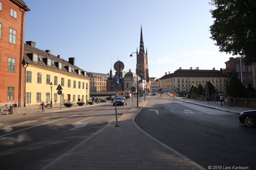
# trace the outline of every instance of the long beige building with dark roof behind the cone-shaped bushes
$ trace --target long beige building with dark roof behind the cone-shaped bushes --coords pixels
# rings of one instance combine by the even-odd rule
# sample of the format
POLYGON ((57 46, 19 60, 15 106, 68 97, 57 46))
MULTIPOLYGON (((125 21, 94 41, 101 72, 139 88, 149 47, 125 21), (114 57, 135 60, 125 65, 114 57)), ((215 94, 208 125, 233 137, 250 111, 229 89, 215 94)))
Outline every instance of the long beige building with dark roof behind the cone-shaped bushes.
POLYGON ((196 67, 195 70, 190 67, 189 70, 178 69, 174 73, 165 72, 165 75, 160 78, 159 86, 164 88, 164 91, 173 92, 189 92, 191 86, 194 84, 198 86, 200 83, 204 86, 207 82, 211 82, 217 92, 225 92, 225 82, 229 79, 227 74, 223 73, 223 70, 199 70, 196 67))

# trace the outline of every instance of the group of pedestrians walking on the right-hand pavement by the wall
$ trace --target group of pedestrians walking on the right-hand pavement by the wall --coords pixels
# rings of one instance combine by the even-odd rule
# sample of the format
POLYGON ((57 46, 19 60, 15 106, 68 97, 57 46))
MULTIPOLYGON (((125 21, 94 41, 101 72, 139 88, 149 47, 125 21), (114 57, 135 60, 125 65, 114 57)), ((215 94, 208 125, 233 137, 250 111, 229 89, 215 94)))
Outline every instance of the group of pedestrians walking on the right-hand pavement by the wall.
MULTIPOLYGON (((217 94, 212 94, 212 96, 210 96, 209 94, 206 96, 206 100, 207 100, 207 103, 208 104, 210 104, 210 101, 212 100, 212 103, 213 103, 213 101, 215 101, 215 104, 216 104, 216 102, 217 102, 217 104, 219 103, 219 98, 218 98, 218 95, 217 94)), ((222 105, 222 102, 223 102, 223 104, 226 104, 226 107, 227 106, 234 106, 233 105, 233 101, 234 101, 234 99, 233 99, 233 97, 232 96, 228 96, 228 94, 227 94, 227 96, 223 96, 223 94, 221 94, 220 95, 220 105, 221 106, 223 106, 222 105)))

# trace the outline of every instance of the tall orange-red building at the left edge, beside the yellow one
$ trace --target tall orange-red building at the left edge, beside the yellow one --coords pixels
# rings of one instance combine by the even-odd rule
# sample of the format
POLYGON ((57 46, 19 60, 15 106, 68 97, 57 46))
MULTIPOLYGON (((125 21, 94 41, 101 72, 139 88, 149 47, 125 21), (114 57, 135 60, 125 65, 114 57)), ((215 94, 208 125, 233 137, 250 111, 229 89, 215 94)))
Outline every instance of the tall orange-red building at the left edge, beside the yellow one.
POLYGON ((23 104, 24 29, 26 11, 23 0, 0 0, 0 105, 23 104))

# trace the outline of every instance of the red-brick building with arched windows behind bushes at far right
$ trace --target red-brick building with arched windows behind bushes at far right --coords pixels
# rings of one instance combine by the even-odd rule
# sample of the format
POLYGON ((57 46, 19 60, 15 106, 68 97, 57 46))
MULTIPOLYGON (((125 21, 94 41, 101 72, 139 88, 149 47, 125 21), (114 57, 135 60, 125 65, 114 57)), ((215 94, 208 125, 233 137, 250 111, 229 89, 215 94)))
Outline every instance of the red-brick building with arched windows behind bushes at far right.
POLYGON ((226 64, 226 69, 223 70, 224 73, 228 73, 230 71, 236 71, 238 78, 243 82, 245 86, 249 83, 252 83, 254 88, 255 85, 255 63, 252 65, 246 65, 244 62, 244 57, 230 57, 226 64), (241 59, 241 60, 240 60, 241 59), (242 76, 241 76, 242 73, 242 76))

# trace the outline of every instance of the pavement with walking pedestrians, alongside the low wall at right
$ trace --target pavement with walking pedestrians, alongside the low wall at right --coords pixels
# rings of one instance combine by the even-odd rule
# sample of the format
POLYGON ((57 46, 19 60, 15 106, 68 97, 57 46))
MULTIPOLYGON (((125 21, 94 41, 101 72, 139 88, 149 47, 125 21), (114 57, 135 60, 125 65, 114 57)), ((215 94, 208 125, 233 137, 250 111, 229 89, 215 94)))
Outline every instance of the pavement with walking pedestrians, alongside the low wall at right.
MULTIPOLYGON (((166 93, 167 95, 169 95, 170 97, 172 97, 172 93, 166 93)), ((207 101, 199 101, 199 100, 194 100, 194 99, 188 99, 185 97, 172 97, 176 100, 179 101, 184 101, 184 102, 188 102, 188 103, 192 103, 195 105, 199 105, 199 106, 203 106, 203 107, 208 107, 208 108, 212 108, 212 109, 217 109, 217 110, 222 110, 222 111, 226 111, 226 112, 230 112, 230 113, 236 113, 236 114, 240 114, 241 112, 245 111, 245 110, 255 110, 256 108, 250 108, 250 107, 240 107, 240 106, 227 106, 224 104, 224 102, 222 103, 223 106, 220 105, 220 101, 218 102, 219 104, 215 104, 215 101, 212 103, 212 101, 210 102, 210 104, 207 103, 207 101)))

